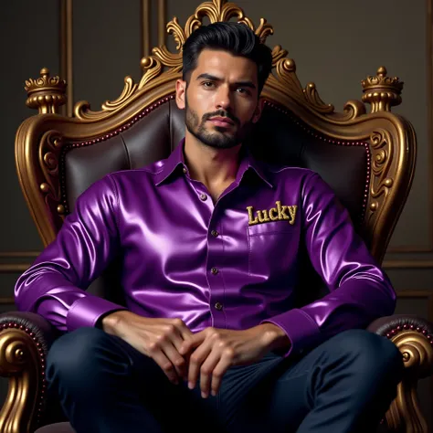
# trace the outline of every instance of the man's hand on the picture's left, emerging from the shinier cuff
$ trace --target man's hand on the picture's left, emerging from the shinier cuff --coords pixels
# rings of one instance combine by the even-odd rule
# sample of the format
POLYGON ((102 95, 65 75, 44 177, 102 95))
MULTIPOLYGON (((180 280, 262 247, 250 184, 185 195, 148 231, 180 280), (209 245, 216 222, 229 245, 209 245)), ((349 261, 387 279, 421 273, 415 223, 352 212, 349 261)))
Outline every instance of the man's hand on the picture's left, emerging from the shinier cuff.
POLYGON ((182 344, 193 333, 181 319, 149 319, 133 312, 112 312, 102 319, 102 329, 130 343, 142 354, 153 358, 174 384, 187 376, 182 344))

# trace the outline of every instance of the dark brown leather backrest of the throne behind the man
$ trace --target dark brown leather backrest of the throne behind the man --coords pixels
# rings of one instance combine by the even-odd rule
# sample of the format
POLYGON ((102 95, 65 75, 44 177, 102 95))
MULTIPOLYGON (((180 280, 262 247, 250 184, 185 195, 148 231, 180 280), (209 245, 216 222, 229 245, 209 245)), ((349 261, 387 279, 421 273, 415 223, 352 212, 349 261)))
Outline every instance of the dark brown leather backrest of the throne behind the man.
MULTIPOLYGON (((73 209, 77 197, 103 175, 166 158, 184 136, 185 113, 170 99, 107 140, 71 147, 65 155, 64 166, 69 210, 73 209)), ((248 146, 260 160, 306 167, 322 175, 349 210, 355 227, 360 229, 369 178, 369 153, 364 143, 335 143, 269 103, 265 105, 248 146)), ((303 304, 319 296, 317 290, 324 290, 324 287, 312 272, 305 251, 301 250, 301 256, 300 280, 303 287, 309 288, 301 290, 308 295, 308 299, 300 301, 303 304)), ((115 259, 89 290, 122 303, 120 263, 121 260, 115 259)))

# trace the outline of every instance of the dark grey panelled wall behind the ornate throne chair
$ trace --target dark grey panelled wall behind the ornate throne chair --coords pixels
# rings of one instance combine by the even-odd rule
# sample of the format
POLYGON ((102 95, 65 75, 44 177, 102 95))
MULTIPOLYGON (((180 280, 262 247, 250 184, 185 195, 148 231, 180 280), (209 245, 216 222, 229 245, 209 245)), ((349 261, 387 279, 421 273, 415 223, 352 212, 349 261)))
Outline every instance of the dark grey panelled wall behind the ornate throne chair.
MULTIPOLYGON (((144 1, 144 0, 143 0, 144 1)), ((158 16, 177 16, 185 25, 199 0, 150 0, 150 28, 143 26, 142 0, 73 0, 73 100, 90 101, 99 110, 116 99, 126 75, 141 76, 143 34, 158 44, 158 16), (143 33, 144 32, 144 33, 143 33)), ((0 14, 2 116, 0 127, 0 311, 15 309, 17 276, 41 250, 15 169, 14 140, 20 122, 36 114, 26 108, 24 81, 48 67, 61 70, 60 12, 67 0, 5 2, 0 14)), ((350 99, 361 99, 361 79, 384 65, 388 75, 405 81, 403 103, 394 109, 415 126, 417 174, 406 209, 396 227, 385 269, 398 291, 397 312, 416 313, 433 321, 433 137, 432 9, 433 0, 239 0, 254 24, 265 17, 275 34, 269 46, 288 49, 305 86, 316 83, 322 100, 337 111, 350 99)), ((174 49, 171 37, 166 38, 174 49)), ((66 77, 63 77, 66 78, 66 77)), ((5 391, 5 381, 3 392, 5 391)), ((0 384, 0 385, 1 385, 0 384)), ((420 385, 430 419, 430 380, 420 385)))

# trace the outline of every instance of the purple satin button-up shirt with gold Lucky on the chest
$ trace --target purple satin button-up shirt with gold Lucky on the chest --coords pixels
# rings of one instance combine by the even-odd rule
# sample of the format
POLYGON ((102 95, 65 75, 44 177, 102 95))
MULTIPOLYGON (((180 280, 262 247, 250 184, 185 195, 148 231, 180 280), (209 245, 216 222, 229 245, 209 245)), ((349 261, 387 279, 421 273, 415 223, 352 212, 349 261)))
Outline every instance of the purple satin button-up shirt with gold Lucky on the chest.
POLYGON ((301 353, 394 312, 396 294, 332 189, 308 169, 241 153, 213 203, 190 178, 184 141, 165 160, 108 174, 79 196, 57 238, 16 282, 16 306, 62 331, 95 326, 120 305, 86 292, 121 251, 126 307, 181 318, 197 332, 272 322, 301 353), (330 293, 293 308, 304 243, 330 293))

